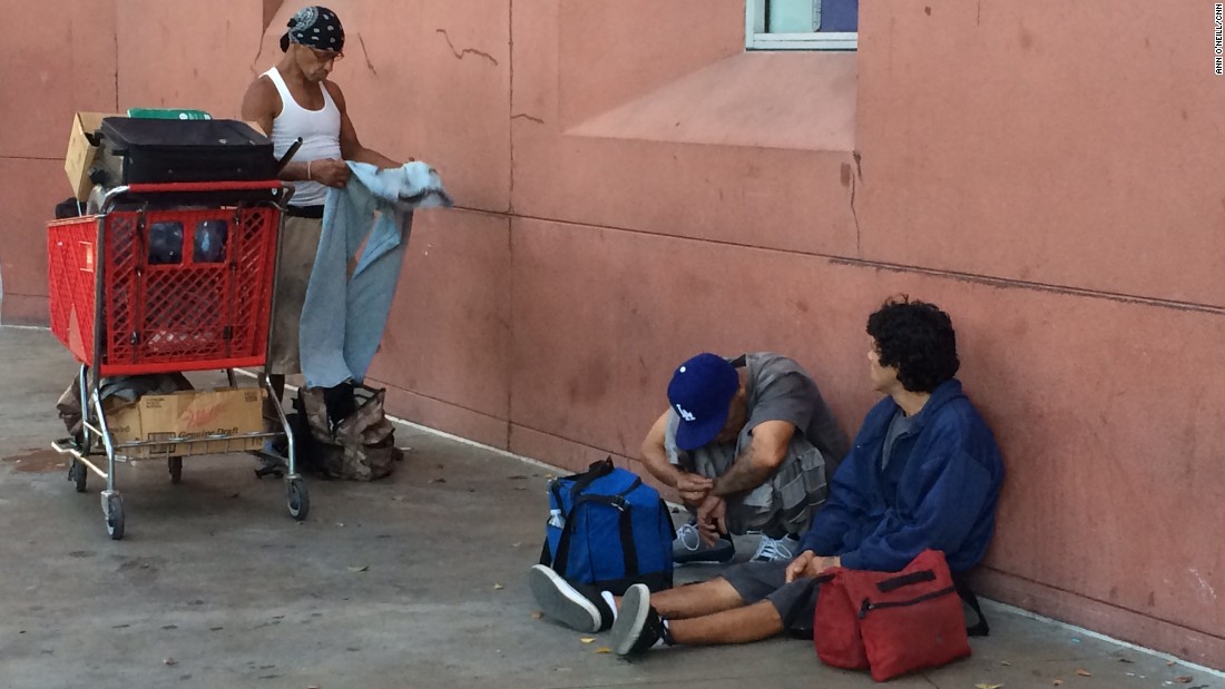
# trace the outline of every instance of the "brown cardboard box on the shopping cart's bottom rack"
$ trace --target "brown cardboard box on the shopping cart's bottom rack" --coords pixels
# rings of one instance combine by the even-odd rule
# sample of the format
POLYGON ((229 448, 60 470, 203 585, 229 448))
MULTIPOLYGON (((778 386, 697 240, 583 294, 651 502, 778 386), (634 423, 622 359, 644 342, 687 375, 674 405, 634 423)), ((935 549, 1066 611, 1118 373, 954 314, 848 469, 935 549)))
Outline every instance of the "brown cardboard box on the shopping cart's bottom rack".
MULTIPOLYGON (((263 390, 219 388, 145 395, 107 410, 107 426, 116 445, 205 436, 240 436, 263 430, 263 390)), ((115 452, 130 458, 187 456, 260 449, 263 438, 160 443, 115 452)))

